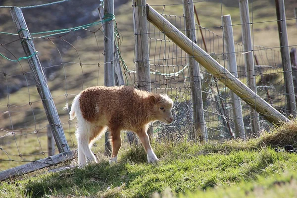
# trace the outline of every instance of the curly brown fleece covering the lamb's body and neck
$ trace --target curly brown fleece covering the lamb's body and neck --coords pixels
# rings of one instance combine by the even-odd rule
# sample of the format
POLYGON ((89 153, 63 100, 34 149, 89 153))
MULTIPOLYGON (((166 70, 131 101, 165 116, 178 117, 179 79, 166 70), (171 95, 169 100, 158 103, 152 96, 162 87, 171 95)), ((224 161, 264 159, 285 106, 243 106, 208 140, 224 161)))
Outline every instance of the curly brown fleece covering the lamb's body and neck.
MULTIPOLYGON (((146 128, 150 121, 155 121, 150 110, 153 104, 149 97, 152 93, 132 87, 90 87, 80 96, 80 109, 89 122, 108 120, 108 127, 119 130, 138 130, 146 128)), ((157 100, 160 96, 155 95, 157 100)), ((111 134, 112 136, 112 134, 111 134)))

